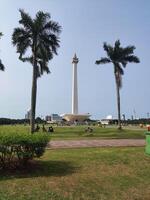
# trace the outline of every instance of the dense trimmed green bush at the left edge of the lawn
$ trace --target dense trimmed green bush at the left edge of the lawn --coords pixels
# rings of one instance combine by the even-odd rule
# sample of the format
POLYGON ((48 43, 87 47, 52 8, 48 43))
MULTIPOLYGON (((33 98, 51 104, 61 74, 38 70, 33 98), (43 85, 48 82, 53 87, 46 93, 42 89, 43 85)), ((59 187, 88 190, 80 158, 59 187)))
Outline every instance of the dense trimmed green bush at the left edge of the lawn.
POLYGON ((0 168, 26 165, 45 152, 50 137, 45 133, 0 134, 0 168))

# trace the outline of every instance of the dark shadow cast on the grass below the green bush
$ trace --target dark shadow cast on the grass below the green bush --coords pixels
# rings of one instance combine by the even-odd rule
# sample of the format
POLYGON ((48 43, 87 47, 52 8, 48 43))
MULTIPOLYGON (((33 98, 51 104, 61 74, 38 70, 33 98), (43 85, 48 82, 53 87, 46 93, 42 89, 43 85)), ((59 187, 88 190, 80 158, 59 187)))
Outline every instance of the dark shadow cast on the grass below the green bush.
POLYGON ((79 167, 66 161, 32 161, 26 167, 13 170, 0 170, 0 181, 15 178, 34 178, 66 176, 76 172, 79 167))

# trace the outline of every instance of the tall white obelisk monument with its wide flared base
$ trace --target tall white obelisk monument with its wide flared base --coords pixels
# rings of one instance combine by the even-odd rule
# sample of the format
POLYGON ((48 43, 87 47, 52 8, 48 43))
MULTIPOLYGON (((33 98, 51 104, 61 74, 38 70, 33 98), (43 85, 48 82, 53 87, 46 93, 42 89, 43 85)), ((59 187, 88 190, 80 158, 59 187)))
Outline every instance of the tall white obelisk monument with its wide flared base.
POLYGON ((73 64, 73 76, 72 76, 72 114, 64 114, 62 117, 67 121, 79 121, 82 122, 90 117, 89 114, 78 114, 78 74, 77 64, 79 59, 76 54, 72 59, 73 64))

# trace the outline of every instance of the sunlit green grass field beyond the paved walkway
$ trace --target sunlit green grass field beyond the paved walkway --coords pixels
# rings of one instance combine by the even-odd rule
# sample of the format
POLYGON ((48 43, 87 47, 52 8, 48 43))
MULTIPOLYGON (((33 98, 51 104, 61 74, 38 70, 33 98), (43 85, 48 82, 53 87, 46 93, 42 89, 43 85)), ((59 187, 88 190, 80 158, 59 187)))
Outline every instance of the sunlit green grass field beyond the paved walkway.
MULTIPOLYGON (((42 127, 42 126, 41 126, 42 127)), ((54 133, 51 133, 52 140, 69 140, 69 139, 117 139, 117 138, 145 138, 145 129, 126 127, 119 131, 116 127, 101 128, 93 126, 93 133, 85 133, 86 126, 68 126, 68 127, 54 127, 54 133)), ((28 132, 29 126, 0 126, 0 133, 6 132, 28 132)))

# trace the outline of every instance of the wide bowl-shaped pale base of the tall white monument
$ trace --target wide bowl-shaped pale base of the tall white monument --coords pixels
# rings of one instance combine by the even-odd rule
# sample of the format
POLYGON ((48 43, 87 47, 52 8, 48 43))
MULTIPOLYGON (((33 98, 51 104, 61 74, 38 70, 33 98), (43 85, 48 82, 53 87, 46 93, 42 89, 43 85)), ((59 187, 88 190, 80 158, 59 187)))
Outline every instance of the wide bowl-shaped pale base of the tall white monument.
POLYGON ((89 119, 90 114, 64 114, 62 118, 68 122, 83 122, 89 119))

